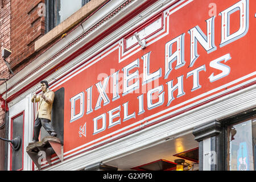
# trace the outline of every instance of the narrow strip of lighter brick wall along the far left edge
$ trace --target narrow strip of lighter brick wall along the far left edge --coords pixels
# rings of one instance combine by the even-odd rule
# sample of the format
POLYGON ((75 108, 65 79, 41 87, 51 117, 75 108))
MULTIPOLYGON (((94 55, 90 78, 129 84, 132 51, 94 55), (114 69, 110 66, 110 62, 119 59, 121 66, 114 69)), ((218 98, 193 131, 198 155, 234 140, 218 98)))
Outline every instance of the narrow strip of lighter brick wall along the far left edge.
MULTIPOLYGON (((0 42, 1 52, 3 48, 10 49, 10 21, 11 21, 11 0, 0 1, 0 42)), ((10 57, 6 59, 10 61, 10 57)), ((9 72, 5 62, 0 59, 0 78, 8 78, 9 72)), ((2 81, 3 82, 3 81, 2 81)), ((6 138, 5 136, 5 111, 0 107, 0 137, 6 138)), ((5 142, 0 140, 0 170, 4 170, 5 167, 5 142)))

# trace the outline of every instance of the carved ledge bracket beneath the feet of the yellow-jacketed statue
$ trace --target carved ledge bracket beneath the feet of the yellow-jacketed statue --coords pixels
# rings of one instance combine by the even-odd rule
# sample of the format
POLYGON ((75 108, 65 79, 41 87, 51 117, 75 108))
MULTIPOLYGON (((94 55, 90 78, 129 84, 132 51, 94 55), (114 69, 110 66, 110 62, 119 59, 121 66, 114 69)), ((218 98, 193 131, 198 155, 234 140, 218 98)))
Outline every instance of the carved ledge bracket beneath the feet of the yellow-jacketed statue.
POLYGON ((48 162, 51 166, 51 155, 56 154, 63 162, 63 144, 56 137, 44 137, 40 142, 31 142, 27 146, 27 154, 38 169, 42 164, 48 162))

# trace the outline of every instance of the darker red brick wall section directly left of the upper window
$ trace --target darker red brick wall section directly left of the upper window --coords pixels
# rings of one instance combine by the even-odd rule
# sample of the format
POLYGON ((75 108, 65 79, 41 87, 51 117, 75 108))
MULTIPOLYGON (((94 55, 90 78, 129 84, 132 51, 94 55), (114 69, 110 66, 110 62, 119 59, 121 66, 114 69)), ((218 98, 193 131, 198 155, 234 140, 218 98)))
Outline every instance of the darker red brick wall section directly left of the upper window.
POLYGON ((45 34, 45 17, 40 16, 38 5, 44 0, 11 1, 11 50, 10 65, 19 72, 35 59, 35 41, 45 34))

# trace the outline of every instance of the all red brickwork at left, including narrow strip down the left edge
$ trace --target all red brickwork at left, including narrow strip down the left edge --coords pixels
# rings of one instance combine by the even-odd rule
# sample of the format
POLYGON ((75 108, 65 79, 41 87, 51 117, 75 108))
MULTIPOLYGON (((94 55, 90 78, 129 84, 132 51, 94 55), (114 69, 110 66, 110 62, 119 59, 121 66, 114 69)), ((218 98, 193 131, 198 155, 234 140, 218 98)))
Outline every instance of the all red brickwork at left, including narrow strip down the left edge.
MULTIPOLYGON (((0 0, 1 51, 3 48, 12 51, 11 56, 6 60, 10 63, 14 74, 26 67, 39 54, 35 52, 34 44, 46 30, 45 18, 38 14, 39 3, 44 3, 44 0, 0 0)), ((0 78, 11 76, 1 56, 0 78)), ((0 84, 3 83, 3 81, 0 82, 0 84)), ((2 138, 6 138, 4 118, 5 111, 0 107, 0 137, 2 138)), ((5 142, 0 140, 0 170, 4 170, 4 158, 5 142)))

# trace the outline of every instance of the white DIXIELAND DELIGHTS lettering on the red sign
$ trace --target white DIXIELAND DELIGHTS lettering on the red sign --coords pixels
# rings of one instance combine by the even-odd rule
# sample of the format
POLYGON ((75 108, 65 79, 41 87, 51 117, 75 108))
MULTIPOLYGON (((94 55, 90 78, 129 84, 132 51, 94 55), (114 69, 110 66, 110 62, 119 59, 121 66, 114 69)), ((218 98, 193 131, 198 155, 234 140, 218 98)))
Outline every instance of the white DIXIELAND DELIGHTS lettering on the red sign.
MULTIPOLYGON (((218 31, 221 31, 221 42, 220 47, 225 46, 233 42, 234 40, 242 38, 247 33, 249 28, 249 1, 241 0, 234 4, 233 6, 228 7, 228 9, 221 11, 221 28, 218 31), (230 34, 230 15, 236 11, 240 11, 240 28, 230 34)), ((106 106, 110 103, 108 96, 112 96, 112 102, 119 100, 120 95, 122 96, 123 102, 119 104, 119 106, 115 106, 115 108, 110 108, 108 111, 104 111, 93 118, 93 135, 101 133, 102 131, 108 130, 110 127, 114 127, 117 125, 121 125, 122 122, 129 122, 129 119, 136 118, 137 115, 140 115, 145 112, 145 110, 152 110, 156 107, 159 107, 164 104, 164 99, 167 101, 166 106, 170 106, 172 101, 176 98, 184 96, 186 93, 184 92, 184 80, 191 81, 191 88, 189 88, 189 92, 195 90, 199 90, 202 86, 200 84, 200 75, 205 76, 205 78, 209 79, 209 84, 220 80, 223 77, 229 76, 231 71, 230 67, 225 64, 228 60, 232 59, 230 53, 226 52, 225 55, 220 55, 217 59, 210 60, 209 62, 203 65, 197 65, 196 60, 200 55, 197 53, 197 43, 200 43, 200 46, 205 49, 205 52, 210 53, 217 49, 214 44, 214 19, 215 16, 205 20, 206 22, 206 31, 203 32, 199 26, 194 26, 190 30, 187 30, 187 35, 190 36, 190 44, 188 43, 189 53, 190 53, 190 62, 188 64, 187 73, 180 73, 180 75, 173 75, 171 71, 173 67, 175 69, 179 69, 185 65, 185 57, 184 57, 184 41, 186 33, 178 34, 176 38, 171 39, 165 44, 164 47, 164 60, 150 60, 150 55, 152 51, 146 51, 144 49, 143 56, 133 58, 131 63, 127 63, 122 69, 115 71, 112 69, 109 75, 104 73, 103 80, 94 84, 95 86, 90 86, 89 88, 85 88, 87 93, 87 108, 86 114, 93 113, 94 110, 98 110, 101 106, 106 106), (173 51, 173 49, 175 49, 173 51), (135 59, 135 60, 134 60, 135 59), (150 71, 150 63, 152 61, 164 61, 164 68, 154 67, 154 71, 150 71), (173 65, 176 62, 176 65, 173 65), (195 64, 195 65, 194 65, 195 64), (139 66, 143 65, 142 69, 139 69, 139 66), (208 67, 206 66, 208 65, 208 67), (195 68, 194 68, 195 67, 195 68), (209 68, 208 70, 206 68, 209 68), (212 71, 212 68, 214 71, 212 71), (143 73, 139 73, 141 70, 143 73), (164 70, 164 74, 162 74, 162 70, 164 70), (221 71, 221 72, 220 72, 221 71), (163 80, 168 79, 162 85, 158 85, 159 78, 162 77, 163 80), (121 80, 119 78, 122 78, 121 80), (141 81, 140 81, 141 79, 141 81), (144 91, 149 84, 156 80, 157 84, 154 84, 154 88, 150 88, 142 94, 137 94, 134 98, 136 104, 130 104, 131 101, 125 100, 126 95, 129 93, 140 93, 139 89, 144 91), (107 95, 109 93, 108 86, 110 83, 110 90, 112 90, 112 95, 107 95), (121 89, 122 86, 122 89, 121 89), (164 88, 167 88, 164 90, 164 88), (120 93, 119 90, 122 92, 120 93), (97 97, 94 96, 93 93, 98 93, 97 97), (92 96, 96 98, 92 98, 92 96), (97 102, 96 102, 97 101, 97 102), (102 104, 103 101, 103 104, 102 104), (93 103, 96 102, 96 103, 93 103), (134 109, 134 106, 137 109, 134 109), (107 123, 108 120, 108 123, 107 123), (108 129, 106 126, 108 125, 108 129)), ((235 22, 235 21, 232 21, 235 22)), ((190 27, 189 27, 190 28, 190 27)), ((229 61, 230 62, 230 61, 229 61)), ((228 62, 228 63, 229 63, 228 62)), ((232 61, 230 62, 232 63, 232 61)), ((155 65, 155 64, 154 64, 155 65)), ((151 66, 152 70, 152 66, 151 66)), ((151 85, 152 86, 152 85, 151 85)), ((187 92, 187 90, 186 90, 187 92)), ((189 93, 187 93, 189 95, 189 93)), ((76 94, 71 98, 71 120, 70 122, 76 121, 84 115, 84 92, 76 94), (80 108, 76 107, 76 102, 79 102, 80 108), (77 113, 77 114, 76 114, 77 113)), ((133 101, 134 102, 134 101, 133 101)), ((89 123, 88 121, 86 121, 89 123)), ((84 128, 85 130, 85 128, 84 128)))

